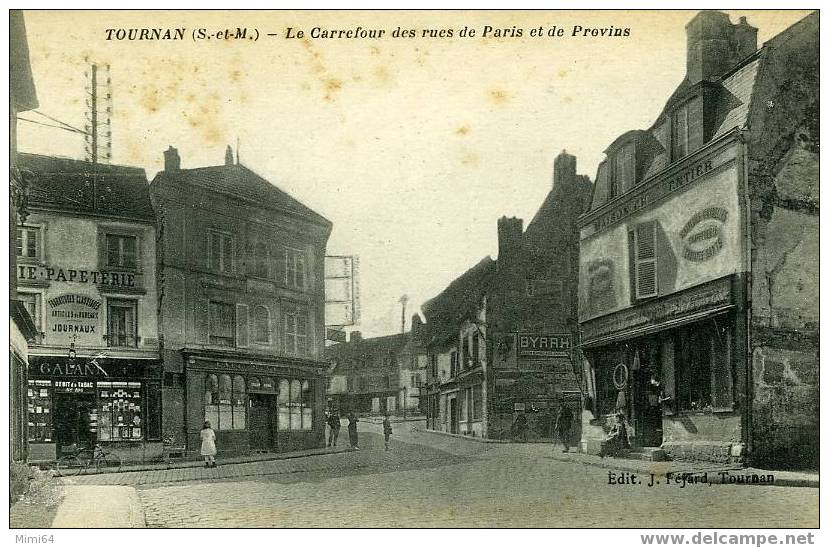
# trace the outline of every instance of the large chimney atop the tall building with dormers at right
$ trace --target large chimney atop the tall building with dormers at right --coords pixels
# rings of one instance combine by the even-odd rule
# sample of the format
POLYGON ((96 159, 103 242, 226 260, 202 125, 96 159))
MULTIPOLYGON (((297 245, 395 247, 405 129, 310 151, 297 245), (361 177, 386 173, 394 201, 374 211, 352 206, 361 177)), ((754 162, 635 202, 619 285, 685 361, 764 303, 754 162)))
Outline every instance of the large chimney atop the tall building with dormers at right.
POLYGON ((685 25, 688 83, 714 80, 734 63, 734 26, 721 11, 703 10, 685 25))

